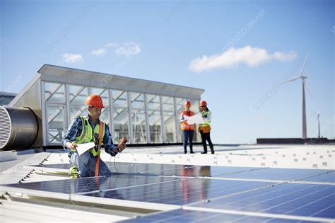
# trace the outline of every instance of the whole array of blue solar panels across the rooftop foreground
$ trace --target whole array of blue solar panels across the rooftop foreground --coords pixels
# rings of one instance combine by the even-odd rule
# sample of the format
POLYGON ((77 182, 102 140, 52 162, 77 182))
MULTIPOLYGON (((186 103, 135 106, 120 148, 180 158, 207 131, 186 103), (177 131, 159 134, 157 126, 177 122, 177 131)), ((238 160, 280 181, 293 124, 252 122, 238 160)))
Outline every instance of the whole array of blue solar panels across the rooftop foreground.
MULTIPOLYGON (((124 222, 335 221, 335 171, 117 163, 100 178, 6 185, 7 190, 69 195, 69 200, 119 200, 170 210, 124 222), (76 195, 76 196, 73 196, 76 195)), ((69 168, 64 164, 36 168, 69 168)), ((2 187, 4 188, 4 187, 2 187)))

